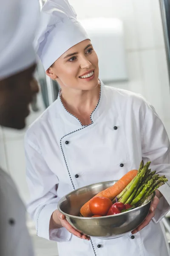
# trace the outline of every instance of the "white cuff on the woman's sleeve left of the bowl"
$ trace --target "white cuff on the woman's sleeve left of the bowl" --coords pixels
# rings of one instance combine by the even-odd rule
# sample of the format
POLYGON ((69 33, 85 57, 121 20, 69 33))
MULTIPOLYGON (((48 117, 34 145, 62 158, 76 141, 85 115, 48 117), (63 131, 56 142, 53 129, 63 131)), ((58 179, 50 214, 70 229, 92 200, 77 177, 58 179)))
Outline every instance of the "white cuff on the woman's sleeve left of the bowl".
POLYGON ((39 212, 37 218, 37 236, 54 241, 68 241, 71 238, 64 227, 49 231, 50 219, 52 213, 57 209, 57 204, 45 204, 39 212))

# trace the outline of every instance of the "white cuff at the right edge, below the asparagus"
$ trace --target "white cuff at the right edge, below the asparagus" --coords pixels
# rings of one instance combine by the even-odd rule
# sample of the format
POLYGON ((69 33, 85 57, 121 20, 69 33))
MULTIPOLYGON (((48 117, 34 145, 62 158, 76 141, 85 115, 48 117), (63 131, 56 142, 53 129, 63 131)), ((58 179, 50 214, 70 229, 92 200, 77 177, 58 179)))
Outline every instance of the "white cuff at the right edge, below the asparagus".
POLYGON ((158 223, 162 218, 170 211, 170 186, 165 183, 163 186, 159 187, 159 191, 163 195, 159 199, 159 204, 155 211, 155 216, 153 221, 158 223))

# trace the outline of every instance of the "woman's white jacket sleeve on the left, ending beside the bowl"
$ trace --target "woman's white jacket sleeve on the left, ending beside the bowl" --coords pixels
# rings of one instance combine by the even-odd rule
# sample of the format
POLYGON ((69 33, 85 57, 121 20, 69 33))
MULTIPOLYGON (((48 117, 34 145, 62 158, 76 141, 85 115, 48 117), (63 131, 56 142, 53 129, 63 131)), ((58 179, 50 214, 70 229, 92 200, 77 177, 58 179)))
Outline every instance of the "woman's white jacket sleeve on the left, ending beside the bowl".
POLYGON ((49 230, 51 215, 60 199, 57 197, 59 180, 49 169, 35 140, 25 137, 26 178, 30 192, 28 212, 34 219, 37 236, 58 242, 68 241, 71 233, 64 227, 49 230))

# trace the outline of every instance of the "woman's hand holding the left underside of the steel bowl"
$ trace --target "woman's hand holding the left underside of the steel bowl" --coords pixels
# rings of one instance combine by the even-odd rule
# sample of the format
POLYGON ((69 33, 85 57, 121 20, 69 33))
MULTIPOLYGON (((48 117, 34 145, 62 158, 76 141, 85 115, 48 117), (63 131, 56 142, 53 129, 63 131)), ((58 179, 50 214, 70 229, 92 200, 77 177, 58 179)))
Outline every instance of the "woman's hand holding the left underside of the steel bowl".
POLYGON ((77 236, 81 239, 90 240, 90 237, 82 235, 77 230, 75 230, 71 225, 68 223, 68 221, 65 219, 65 216, 59 212, 59 210, 55 210, 51 216, 51 226, 50 228, 59 228, 59 227, 65 227, 66 230, 68 230, 71 234, 74 236, 77 236), (53 224, 52 224, 53 223, 53 224), (54 227, 55 225, 55 227, 54 227))

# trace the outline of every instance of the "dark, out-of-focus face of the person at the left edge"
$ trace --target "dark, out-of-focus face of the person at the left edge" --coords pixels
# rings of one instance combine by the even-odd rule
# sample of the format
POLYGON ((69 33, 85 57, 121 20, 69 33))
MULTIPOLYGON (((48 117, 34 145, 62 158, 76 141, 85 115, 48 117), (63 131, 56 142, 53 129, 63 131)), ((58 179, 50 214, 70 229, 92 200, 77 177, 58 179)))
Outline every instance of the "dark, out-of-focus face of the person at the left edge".
POLYGON ((29 103, 38 92, 33 79, 36 65, 0 81, 0 125, 23 129, 29 114, 29 103))

